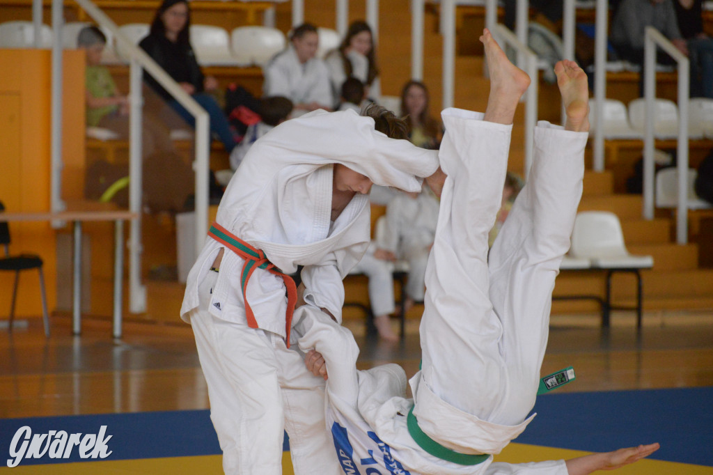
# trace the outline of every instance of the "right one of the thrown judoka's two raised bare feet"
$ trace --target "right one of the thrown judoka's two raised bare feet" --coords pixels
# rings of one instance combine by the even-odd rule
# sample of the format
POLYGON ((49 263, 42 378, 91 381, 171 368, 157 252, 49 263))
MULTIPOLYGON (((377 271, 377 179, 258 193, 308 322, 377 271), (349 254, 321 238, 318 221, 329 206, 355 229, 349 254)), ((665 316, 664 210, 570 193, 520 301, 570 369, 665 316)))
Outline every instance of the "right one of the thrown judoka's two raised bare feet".
POLYGON ((567 115, 565 129, 574 132, 589 131, 587 73, 574 61, 565 60, 555 64, 555 74, 567 115))

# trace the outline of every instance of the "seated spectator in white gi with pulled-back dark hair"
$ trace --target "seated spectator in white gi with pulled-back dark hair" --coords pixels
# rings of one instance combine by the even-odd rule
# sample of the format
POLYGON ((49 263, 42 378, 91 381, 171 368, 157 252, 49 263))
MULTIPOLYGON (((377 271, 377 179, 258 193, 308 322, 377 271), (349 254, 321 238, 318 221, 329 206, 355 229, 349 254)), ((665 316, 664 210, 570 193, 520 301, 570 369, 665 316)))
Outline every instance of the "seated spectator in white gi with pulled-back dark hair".
POLYGON ((290 44, 265 67, 264 96, 284 96, 294 103, 293 115, 331 110, 332 86, 324 61, 315 57, 317 27, 305 23, 294 29, 290 44))

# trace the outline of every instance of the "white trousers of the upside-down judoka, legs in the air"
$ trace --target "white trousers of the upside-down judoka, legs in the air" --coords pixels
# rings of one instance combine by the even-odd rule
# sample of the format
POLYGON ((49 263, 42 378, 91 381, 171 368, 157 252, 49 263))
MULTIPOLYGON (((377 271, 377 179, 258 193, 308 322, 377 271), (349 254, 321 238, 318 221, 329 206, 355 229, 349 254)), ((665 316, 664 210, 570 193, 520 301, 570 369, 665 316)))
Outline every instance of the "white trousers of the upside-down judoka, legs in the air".
MULTIPOLYGON (((439 154, 448 178, 426 271, 421 384, 455 408, 454 420, 459 412, 513 426, 535 404, 552 290, 582 194, 587 134, 538 124, 528 183, 488 260, 511 126, 482 122, 448 133, 467 137, 446 138, 439 154)), ((448 424, 442 410, 415 399, 422 428, 448 424)))

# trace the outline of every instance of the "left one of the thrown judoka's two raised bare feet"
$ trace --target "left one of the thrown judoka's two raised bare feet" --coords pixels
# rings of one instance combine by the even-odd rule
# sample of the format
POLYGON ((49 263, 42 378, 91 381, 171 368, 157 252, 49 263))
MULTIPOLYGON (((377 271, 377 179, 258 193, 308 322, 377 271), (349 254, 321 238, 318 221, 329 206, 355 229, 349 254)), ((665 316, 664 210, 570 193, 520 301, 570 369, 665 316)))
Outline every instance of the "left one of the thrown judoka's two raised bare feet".
POLYGON ((481 42, 485 46, 491 78, 491 91, 484 120, 511 124, 520 97, 530 86, 530 76, 510 62, 487 28, 483 30, 481 42))

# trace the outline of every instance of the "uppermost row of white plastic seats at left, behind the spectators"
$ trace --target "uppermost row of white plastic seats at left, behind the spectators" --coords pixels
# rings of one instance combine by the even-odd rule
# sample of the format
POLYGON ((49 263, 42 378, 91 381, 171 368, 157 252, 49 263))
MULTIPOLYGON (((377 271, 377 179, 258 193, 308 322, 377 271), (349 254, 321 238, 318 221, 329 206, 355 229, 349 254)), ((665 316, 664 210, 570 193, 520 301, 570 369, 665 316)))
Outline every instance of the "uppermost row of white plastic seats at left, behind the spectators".
MULTIPOLYGON (((76 48, 77 35, 89 25, 86 22, 71 22, 62 29, 64 48, 76 48)), ((149 24, 125 24, 119 26, 121 34, 133 44, 138 44, 148 35, 149 24)), ((107 47, 102 62, 107 64, 125 63, 128 55, 113 39, 113 35, 102 29, 107 37, 107 47)), ((341 38, 337 31, 319 28, 319 50, 323 57, 327 51, 339 46, 341 38)), ((262 66, 282 51, 287 40, 282 31, 267 26, 238 26, 230 33, 220 26, 191 25, 191 44, 201 66, 262 66)), ((51 48, 52 29, 41 28, 41 48, 51 48)), ((7 21, 0 24, 0 48, 34 48, 34 26, 31 21, 7 21)))

